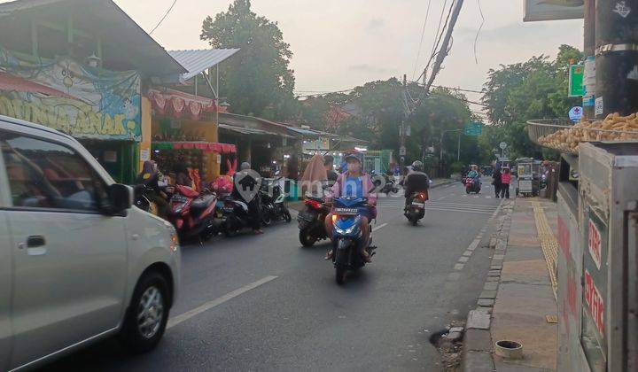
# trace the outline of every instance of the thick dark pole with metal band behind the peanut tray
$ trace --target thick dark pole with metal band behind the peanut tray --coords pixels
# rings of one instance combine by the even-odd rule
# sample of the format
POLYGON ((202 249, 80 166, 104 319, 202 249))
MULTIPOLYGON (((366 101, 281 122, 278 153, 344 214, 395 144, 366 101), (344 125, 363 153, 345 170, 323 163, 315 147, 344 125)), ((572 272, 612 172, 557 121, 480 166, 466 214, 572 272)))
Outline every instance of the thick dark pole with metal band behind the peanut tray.
POLYGON ((638 112, 638 0, 595 3, 595 117, 638 112))

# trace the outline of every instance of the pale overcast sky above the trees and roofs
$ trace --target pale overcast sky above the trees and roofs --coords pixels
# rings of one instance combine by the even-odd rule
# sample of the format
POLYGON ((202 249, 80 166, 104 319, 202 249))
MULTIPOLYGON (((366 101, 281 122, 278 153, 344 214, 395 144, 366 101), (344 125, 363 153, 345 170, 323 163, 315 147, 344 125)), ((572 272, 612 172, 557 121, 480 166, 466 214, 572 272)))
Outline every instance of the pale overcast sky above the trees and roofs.
MULTIPOLYGON (((418 76, 432 51, 445 1, 432 0, 418 60, 428 0, 253 0, 253 11, 278 22, 284 40, 291 44, 296 90, 332 91, 402 74, 410 79, 415 66, 418 76)), ((150 31, 173 0, 115 2, 150 31)), ((229 4, 230 0, 177 0, 152 36, 167 50, 206 48, 199 40, 202 20, 226 11, 229 4)), ((582 48, 582 19, 525 23, 522 19, 523 0, 466 0, 453 49, 436 83, 480 89, 486 72, 499 64, 541 53, 555 56, 561 43, 582 48), (477 63, 479 3, 485 24, 478 35, 477 63)))

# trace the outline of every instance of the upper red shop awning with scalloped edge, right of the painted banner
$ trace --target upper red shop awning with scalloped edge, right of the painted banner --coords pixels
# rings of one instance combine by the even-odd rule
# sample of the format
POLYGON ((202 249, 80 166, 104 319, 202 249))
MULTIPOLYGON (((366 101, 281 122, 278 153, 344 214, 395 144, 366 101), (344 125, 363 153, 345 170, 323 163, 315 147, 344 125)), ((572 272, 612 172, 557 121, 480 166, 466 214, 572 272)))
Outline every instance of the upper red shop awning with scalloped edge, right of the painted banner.
POLYGON ((162 115, 172 114, 175 119, 188 114, 192 120, 198 120, 201 112, 214 112, 217 107, 214 99, 194 96, 175 89, 149 89, 148 97, 155 110, 162 115))

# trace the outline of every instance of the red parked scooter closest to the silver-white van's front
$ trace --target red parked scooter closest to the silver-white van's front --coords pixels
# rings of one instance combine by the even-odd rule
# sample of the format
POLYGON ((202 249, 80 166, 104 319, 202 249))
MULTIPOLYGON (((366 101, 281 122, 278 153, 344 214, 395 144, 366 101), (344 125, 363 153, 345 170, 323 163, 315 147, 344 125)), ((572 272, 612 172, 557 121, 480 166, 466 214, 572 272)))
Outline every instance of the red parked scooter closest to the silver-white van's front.
POLYGON ((190 187, 175 185, 168 208, 168 221, 175 226, 181 241, 198 238, 200 242, 205 242, 217 235, 214 223, 216 203, 217 197, 213 193, 199 193, 190 187))

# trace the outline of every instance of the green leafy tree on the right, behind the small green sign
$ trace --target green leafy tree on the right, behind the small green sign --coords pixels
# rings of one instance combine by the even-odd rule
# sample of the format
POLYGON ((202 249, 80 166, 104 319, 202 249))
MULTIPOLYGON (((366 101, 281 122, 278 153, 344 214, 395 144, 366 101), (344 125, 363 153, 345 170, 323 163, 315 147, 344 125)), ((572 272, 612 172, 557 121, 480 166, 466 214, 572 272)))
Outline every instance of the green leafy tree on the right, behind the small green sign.
POLYGON ((494 143, 504 141, 510 158, 556 156, 530 141, 527 121, 566 118, 572 106, 580 105, 580 98, 567 97, 567 84, 570 62, 581 58, 580 50, 561 45, 554 60, 541 55, 491 69, 482 100, 493 128, 479 140, 481 154, 489 156, 494 143))

